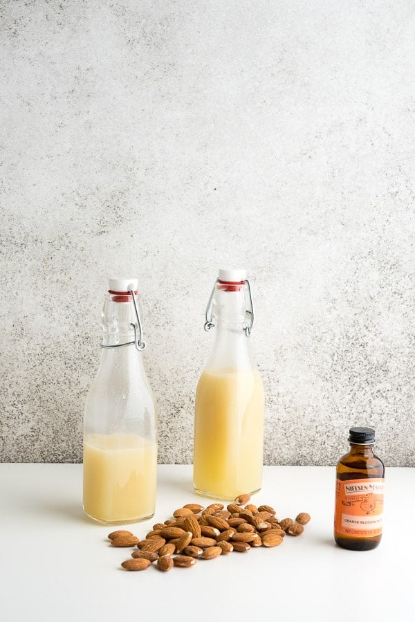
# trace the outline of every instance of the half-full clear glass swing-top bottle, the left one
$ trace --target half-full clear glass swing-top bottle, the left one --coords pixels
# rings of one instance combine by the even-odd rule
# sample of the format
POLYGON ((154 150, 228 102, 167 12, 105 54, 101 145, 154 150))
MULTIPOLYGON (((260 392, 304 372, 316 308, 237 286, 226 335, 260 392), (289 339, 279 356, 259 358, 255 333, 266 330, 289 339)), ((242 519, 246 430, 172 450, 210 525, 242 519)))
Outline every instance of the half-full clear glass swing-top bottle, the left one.
POLYGON ((102 355, 85 403, 84 512, 102 524, 149 518, 156 504, 156 404, 136 298, 136 279, 109 279, 102 355))

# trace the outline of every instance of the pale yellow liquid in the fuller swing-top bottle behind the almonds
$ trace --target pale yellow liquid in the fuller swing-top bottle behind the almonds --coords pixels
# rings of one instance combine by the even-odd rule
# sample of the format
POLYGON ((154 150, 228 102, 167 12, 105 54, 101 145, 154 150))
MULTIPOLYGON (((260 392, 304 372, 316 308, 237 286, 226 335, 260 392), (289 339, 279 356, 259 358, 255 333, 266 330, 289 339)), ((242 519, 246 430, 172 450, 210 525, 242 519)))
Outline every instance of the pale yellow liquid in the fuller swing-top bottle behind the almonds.
POLYGON ((194 488, 233 500, 261 488, 264 389, 258 372, 203 372, 196 390, 194 488))

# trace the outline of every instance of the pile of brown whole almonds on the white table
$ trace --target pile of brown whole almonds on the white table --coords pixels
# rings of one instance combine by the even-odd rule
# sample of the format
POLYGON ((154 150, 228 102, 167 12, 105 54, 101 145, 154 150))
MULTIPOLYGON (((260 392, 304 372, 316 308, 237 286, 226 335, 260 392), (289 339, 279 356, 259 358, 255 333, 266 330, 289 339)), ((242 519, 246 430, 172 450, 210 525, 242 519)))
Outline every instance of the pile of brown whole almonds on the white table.
POLYGON ((113 547, 135 547, 131 559, 122 562, 126 570, 145 570, 153 562, 161 571, 173 566, 189 568, 197 559, 214 559, 252 547, 277 547, 284 536, 299 536, 310 520, 306 512, 295 520, 280 520, 269 505, 249 503, 250 495, 239 495, 226 509, 221 503, 208 507, 189 503, 173 513, 172 519, 153 525, 152 531, 139 540, 131 531, 109 534, 113 547))

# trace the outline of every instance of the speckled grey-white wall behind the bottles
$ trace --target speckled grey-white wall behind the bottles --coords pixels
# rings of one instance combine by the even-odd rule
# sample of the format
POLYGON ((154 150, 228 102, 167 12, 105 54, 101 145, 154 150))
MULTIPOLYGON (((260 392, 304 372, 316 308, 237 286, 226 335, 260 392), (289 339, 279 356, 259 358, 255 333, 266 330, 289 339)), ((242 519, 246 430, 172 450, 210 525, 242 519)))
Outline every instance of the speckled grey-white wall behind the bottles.
POLYGON ((191 462, 245 266, 266 464, 349 426, 415 466, 411 0, 0 2, 2 461, 80 461, 107 277, 140 282, 159 461, 191 462))

